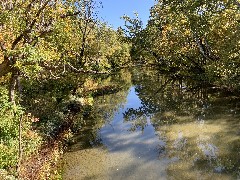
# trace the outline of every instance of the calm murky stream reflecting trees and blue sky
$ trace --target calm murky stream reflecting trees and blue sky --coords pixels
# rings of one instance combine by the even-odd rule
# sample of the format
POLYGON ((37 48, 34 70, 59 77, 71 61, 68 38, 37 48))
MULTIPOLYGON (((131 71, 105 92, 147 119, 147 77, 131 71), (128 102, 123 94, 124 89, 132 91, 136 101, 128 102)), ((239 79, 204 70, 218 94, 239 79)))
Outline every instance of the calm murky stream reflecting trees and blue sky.
POLYGON ((131 82, 95 98, 63 179, 240 178, 238 97, 156 71, 134 71, 131 82))

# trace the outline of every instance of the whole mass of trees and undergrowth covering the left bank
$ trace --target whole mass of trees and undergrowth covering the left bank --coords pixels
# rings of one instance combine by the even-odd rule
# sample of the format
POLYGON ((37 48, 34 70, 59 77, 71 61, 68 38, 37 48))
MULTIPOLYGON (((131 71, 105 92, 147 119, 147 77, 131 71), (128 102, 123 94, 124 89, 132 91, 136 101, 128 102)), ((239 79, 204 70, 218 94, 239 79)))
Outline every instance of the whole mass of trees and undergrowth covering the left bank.
POLYGON ((41 138, 82 123, 83 106, 93 105, 91 94, 76 95, 91 82, 85 72, 129 64, 130 45, 98 20, 97 8, 94 0, 0 3, 0 169, 17 165, 19 119, 27 158, 41 138))

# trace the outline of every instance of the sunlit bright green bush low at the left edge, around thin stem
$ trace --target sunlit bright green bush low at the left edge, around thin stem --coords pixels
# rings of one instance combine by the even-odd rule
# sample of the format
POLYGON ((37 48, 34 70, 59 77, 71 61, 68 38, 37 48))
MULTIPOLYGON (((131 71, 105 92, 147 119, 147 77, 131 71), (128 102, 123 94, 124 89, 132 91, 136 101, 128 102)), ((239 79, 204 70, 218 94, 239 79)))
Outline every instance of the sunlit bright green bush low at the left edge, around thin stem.
MULTIPOLYGON (((23 114, 19 106, 12 107, 8 102, 7 89, 0 88, 0 169, 14 170, 19 155, 19 119, 23 116, 22 146, 24 157, 29 156, 41 143, 41 137, 31 128, 37 120, 32 115, 23 114)), ((14 172, 14 171, 13 171, 14 172)))

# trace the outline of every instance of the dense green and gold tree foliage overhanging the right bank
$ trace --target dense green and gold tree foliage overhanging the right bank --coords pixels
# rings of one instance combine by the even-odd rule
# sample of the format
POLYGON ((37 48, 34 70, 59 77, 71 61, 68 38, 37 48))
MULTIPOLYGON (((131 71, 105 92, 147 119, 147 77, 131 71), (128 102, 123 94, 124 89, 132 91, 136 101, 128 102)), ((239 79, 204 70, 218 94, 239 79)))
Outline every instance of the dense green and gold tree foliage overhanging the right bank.
POLYGON ((205 74, 203 79, 211 83, 236 84, 238 1, 159 0, 150 13, 147 27, 131 37, 136 59, 184 76, 205 74))

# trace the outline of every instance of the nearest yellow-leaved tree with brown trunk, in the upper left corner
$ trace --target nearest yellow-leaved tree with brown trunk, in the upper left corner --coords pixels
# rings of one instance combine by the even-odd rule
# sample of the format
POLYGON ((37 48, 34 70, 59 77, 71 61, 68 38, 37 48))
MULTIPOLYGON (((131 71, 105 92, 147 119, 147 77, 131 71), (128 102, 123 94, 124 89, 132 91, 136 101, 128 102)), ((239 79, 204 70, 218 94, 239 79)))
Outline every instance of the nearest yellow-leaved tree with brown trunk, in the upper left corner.
POLYGON ((48 42, 56 36, 54 30, 68 19, 80 13, 75 1, 19 0, 3 1, 0 6, 0 77, 11 73, 10 101, 20 75, 48 68, 48 62, 59 60, 61 54, 48 42))

